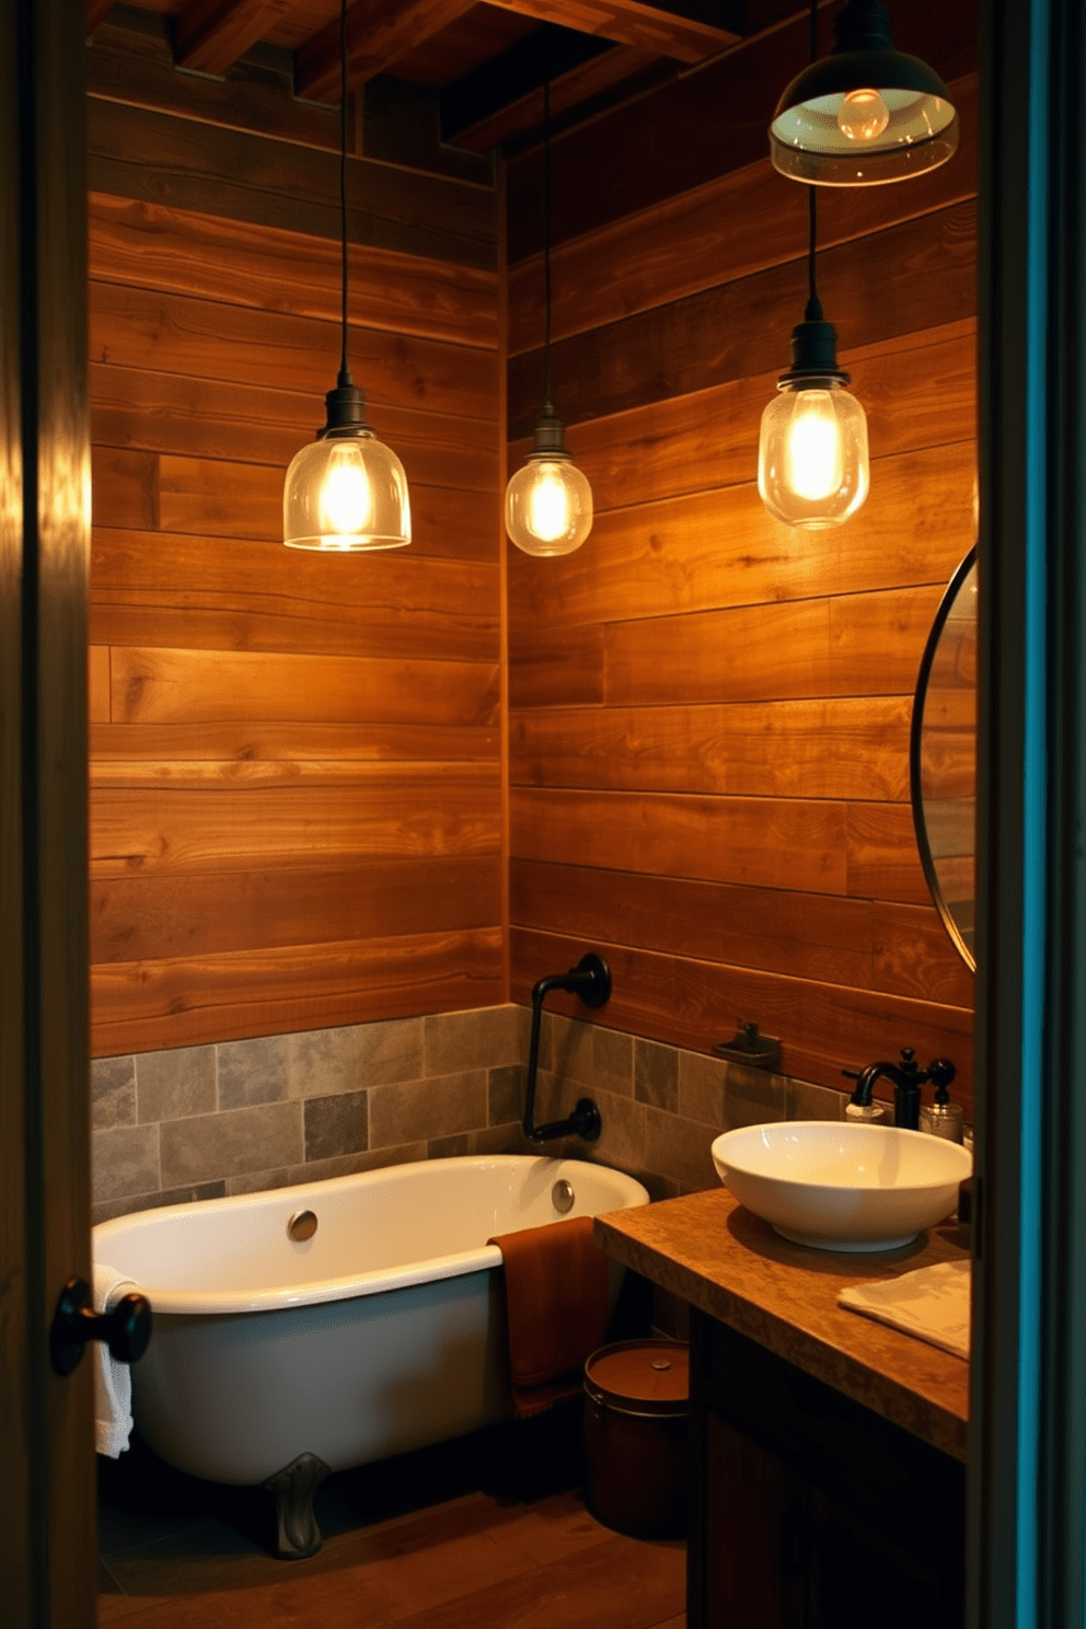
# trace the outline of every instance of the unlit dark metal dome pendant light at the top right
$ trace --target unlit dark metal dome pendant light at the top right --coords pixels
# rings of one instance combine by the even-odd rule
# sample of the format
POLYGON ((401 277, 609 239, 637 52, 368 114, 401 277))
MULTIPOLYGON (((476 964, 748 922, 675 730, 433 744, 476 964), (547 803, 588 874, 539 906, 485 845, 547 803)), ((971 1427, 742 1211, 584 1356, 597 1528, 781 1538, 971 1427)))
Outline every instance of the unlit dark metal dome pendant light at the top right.
POLYGON ((791 81, 770 124, 773 168, 827 187, 904 181, 944 165, 957 147, 957 111, 943 80, 894 50, 879 0, 847 0, 834 46, 791 81))

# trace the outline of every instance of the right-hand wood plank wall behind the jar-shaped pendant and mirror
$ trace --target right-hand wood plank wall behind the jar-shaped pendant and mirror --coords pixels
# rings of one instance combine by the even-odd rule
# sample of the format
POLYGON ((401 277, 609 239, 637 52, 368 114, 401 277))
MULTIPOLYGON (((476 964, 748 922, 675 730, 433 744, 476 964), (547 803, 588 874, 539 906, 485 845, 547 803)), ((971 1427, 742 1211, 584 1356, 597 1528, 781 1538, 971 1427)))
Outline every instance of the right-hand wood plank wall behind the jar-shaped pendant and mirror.
MULTIPOLYGON (((806 191, 765 156, 806 26, 554 142, 555 406, 596 523, 562 560, 510 549, 511 979, 524 1000, 598 946, 601 1023, 707 1047, 755 1020, 786 1074, 839 1088, 912 1044, 969 1098, 972 977, 917 854, 909 720, 972 542, 977 20, 918 0, 894 24, 962 140, 931 176, 821 194, 873 453, 840 529, 780 526, 755 489, 806 301, 806 191)), ((516 468, 542 397, 537 151, 508 165, 506 220, 516 468)))

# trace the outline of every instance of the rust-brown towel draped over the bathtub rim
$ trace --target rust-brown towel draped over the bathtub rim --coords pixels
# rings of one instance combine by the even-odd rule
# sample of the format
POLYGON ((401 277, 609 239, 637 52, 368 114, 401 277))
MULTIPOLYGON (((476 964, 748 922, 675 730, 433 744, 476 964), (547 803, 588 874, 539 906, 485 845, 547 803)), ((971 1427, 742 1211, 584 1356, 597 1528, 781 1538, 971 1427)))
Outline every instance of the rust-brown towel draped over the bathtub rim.
POLYGON ((607 1258, 593 1218, 500 1233, 505 1262, 508 1378, 519 1419, 542 1414, 585 1383, 585 1359, 607 1334, 607 1258))

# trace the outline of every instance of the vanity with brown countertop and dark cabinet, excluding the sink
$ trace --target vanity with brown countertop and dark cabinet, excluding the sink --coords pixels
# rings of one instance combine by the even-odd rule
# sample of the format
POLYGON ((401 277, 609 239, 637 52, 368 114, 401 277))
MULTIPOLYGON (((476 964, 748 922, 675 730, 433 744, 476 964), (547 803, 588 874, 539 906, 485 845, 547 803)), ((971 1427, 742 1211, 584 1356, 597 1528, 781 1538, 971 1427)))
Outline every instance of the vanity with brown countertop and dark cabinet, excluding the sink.
POLYGON ((721 1189, 596 1236, 690 1305, 689 1629, 961 1629, 969 1365, 837 1306, 959 1230, 809 1251, 721 1189))

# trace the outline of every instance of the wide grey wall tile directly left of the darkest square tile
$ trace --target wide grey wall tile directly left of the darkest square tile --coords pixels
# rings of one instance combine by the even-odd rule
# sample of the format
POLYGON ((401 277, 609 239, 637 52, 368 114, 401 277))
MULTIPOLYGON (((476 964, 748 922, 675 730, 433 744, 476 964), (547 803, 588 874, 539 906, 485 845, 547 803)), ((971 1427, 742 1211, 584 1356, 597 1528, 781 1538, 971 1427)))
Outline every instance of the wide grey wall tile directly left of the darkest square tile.
POLYGON ((161 1127, 164 1186, 274 1171, 301 1160, 301 1103, 223 1109, 161 1127))

